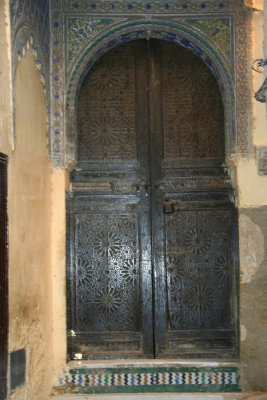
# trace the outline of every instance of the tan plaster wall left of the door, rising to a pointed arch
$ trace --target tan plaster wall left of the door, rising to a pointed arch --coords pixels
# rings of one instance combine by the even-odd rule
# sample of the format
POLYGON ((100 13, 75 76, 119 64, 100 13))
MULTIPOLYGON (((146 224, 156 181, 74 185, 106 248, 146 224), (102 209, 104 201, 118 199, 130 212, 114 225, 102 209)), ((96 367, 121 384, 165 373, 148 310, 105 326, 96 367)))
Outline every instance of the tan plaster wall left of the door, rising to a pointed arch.
POLYGON ((26 350, 12 400, 47 399, 52 365, 51 169, 43 85, 31 48, 17 65, 15 149, 9 156, 9 343, 26 350))

